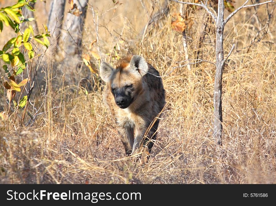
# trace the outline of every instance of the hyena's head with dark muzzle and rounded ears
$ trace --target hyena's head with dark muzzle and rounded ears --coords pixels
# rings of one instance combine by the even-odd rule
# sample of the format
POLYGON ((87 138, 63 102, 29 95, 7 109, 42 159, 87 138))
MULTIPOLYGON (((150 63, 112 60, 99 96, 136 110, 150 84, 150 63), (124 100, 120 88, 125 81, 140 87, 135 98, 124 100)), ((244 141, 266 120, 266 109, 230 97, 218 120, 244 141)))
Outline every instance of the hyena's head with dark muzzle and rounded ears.
POLYGON ((107 83, 115 103, 122 109, 129 107, 143 92, 143 76, 147 72, 147 62, 138 55, 120 61, 115 68, 105 62, 100 66, 101 78, 107 83))

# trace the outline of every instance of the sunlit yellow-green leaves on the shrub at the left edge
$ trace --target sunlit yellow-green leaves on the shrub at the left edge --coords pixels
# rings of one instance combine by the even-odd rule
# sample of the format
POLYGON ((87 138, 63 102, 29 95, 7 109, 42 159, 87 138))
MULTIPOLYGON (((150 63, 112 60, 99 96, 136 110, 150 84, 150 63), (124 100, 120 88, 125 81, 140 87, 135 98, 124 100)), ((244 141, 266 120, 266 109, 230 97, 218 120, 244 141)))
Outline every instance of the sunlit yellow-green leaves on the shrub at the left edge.
MULTIPOLYGON (((35 57, 33 45, 36 43, 42 44, 45 47, 48 47, 49 45, 48 37, 50 34, 47 31, 47 28, 45 29, 46 33, 39 35, 34 35, 34 30, 31 26, 25 29, 25 31, 20 31, 20 24, 34 20, 34 18, 24 19, 21 12, 22 7, 35 11, 30 5, 30 3, 35 2, 36 0, 19 0, 12 6, 0 8, 0 34, 4 29, 4 25, 14 29, 16 34, 16 36, 8 40, 2 50, 0 50, 0 59, 2 59, 5 63, 2 68, 5 71, 4 86, 8 90, 7 98, 9 101, 12 101, 15 96, 15 92, 21 92, 20 87, 23 87, 28 82, 27 78, 17 84, 15 76, 22 74, 28 62, 31 62, 35 57), (26 55, 24 56, 23 54, 26 55), (30 61, 28 61, 28 59, 30 61), (8 69, 8 65, 10 65, 10 69, 8 69)), ((24 96, 19 103, 14 101, 13 105, 18 108, 23 108, 26 103, 27 96, 24 96)))

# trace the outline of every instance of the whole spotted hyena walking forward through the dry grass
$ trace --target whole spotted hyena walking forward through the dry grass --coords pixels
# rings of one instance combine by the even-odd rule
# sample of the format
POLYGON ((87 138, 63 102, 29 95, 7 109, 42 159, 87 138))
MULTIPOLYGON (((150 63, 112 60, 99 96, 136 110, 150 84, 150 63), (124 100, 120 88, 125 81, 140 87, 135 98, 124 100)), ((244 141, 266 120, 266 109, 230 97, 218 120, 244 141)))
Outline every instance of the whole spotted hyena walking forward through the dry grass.
POLYGON ((106 82, 104 92, 126 155, 141 146, 151 152, 159 119, 145 133, 165 105, 165 90, 159 72, 139 55, 121 59, 115 68, 102 62, 100 76, 106 82), (157 77, 156 77, 157 76, 157 77))

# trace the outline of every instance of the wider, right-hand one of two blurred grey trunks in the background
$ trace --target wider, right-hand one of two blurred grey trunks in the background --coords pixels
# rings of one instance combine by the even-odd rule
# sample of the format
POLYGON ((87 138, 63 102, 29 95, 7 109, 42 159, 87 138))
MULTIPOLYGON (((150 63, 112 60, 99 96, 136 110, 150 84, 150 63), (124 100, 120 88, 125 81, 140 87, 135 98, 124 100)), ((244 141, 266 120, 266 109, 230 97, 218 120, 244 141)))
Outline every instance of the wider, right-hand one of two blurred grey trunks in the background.
POLYGON ((88 0, 74 1, 77 5, 76 13, 68 13, 64 23, 64 32, 62 34, 62 43, 65 55, 74 55, 81 53, 82 29, 86 16, 88 0))

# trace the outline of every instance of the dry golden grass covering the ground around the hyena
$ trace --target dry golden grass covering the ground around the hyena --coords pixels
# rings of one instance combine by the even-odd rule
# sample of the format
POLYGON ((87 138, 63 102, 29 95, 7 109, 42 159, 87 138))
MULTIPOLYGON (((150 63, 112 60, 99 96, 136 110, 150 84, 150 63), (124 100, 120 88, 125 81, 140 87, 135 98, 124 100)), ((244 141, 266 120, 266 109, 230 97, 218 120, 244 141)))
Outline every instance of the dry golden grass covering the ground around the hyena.
MULTIPOLYGON (((113 34, 109 36, 107 29, 100 27, 103 54, 118 41, 120 55, 127 50, 141 54, 161 75, 180 66, 177 62, 184 60, 182 36, 172 31, 171 15, 140 44, 137 31, 144 13, 135 13, 132 19, 124 6, 119 12, 111 10, 101 16, 100 23, 118 24, 108 27, 113 34), (124 25, 120 19, 126 15, 130 17, 119 39, 124 25)), ((264 8, 257 13, 260 17, 265 17, 264 8)), ((176 9, 173 4, 171 13, 176 9)), ((139 11, 144 11, 141 4, 139 11)), ((254 9, 241 11, 226 26, 226 54, 232 43, 237 43, 237 48, 223 75, 221 148, 216 150, 212 139, 214 65, 202 62, 191 70, 180 67, 163 78, 168 105, 149 162, 140 165, 125 157, 102 91, 86 94, 77 86, 66 87, 62 77, 55 79, 59 84, 54 85, 50 79, 55 76, 55 62, 47 60, 43 67, 49 82, 47 92, 33 97, 35 107, 43 105, 40 112, 45 113, 27 127, 0 121, 0 183, 276 183, 276 47, 268 43, 276 41, 276 19, 269 26, 270 35, 247 52, 258 28, 253 13, 254 9)), ((188 34, 190 55, 201 28, 202 13, 197 14, 197 23, 188 34)), ((86 23, 89 35, 84 38, 88 46, 89 39, 95 39, 91 22, 86 23)), ((201 58, 214 62, 212 33, 204 45, 201 58)), ((2 87, 1 101, 5 101, 2 87)), ((31 106, 28 110, 33 112, 31 106)))

